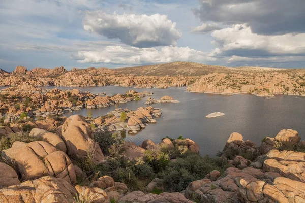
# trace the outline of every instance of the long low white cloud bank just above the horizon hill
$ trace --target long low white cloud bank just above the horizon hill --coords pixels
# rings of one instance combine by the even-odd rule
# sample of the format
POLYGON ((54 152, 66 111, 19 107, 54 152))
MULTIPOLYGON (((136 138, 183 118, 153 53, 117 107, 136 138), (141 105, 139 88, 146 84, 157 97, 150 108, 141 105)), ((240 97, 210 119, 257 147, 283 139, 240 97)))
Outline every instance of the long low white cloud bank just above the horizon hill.
POLYGON ((95 51, 78 51, 72 56, 80 63, 149 64, 173 61, 215 61, 214 52, 206 53, 189 47, 165 46, 162 48, 137 48, 107 46, 95 51))

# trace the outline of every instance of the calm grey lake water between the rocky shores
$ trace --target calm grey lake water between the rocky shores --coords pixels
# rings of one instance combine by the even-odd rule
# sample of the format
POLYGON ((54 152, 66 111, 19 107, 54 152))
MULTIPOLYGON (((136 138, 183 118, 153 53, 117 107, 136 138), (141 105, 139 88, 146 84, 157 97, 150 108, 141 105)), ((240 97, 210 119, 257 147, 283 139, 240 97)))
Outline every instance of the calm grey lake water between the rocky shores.
MULTIPOLYGON (((53 88, 53 87, 52 87, 53 88)), ((73 89, 73 87, 59 87, 59 89, 73 89)), ((169 136, 177 138, 180 134, 190 138, 200 145, 200 154, 215 156, 221 151, 232 132, 242 134, 244 140, 252 140, 260 145, 266 137, 275 137, 282 129, 297 130, 305 139, 305 97, 276 96, 266 99, 254 95, 219 95, 186 92, 185 88, 168 89, 138 89, 126 87, 81 87, 77 88, 92 93, 106 92, 107 95, 124 94, 129 89, 138 92, 153 91, 154 98, 160 99, 169 95, 180 103, 153 104, 154 108, 161 108, 162 117, 157 118, 156 124, 148 124, 136 135, 127 135, 126 140, 141 144, 146 139, 159 143, 162 138, 169 136), (223 112, 225 116, 205 118, 209 113, 223 112)), ((136 110, 145 107, 142 101, 118 104, 118 108, 136 110)), ((93 116, 105 115, 115 107, 93 109, 93 116)), ((66 113, 88 115, 88 109, 66 113)))

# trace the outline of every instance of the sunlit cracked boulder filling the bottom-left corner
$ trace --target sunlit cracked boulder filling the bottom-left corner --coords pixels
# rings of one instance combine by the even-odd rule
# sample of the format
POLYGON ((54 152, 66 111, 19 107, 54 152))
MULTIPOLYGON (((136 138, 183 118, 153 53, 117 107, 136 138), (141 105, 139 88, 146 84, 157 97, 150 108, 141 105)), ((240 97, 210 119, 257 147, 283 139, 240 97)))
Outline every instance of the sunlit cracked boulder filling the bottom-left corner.
POLYGON ((25 181, 0 190, 0 202, 32 203, 60 202, 74 203, 77 191, 67 181, 44 176, 25 181))

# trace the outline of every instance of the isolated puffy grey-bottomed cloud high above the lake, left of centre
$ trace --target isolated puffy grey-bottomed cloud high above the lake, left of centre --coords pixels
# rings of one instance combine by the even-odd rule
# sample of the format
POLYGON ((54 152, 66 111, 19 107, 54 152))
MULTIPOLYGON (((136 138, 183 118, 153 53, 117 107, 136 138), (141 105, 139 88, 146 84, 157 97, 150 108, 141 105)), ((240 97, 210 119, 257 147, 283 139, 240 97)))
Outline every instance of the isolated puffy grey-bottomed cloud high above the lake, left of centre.
POLYGON ((105 36, 108 39, 119 39, 134 47, 155 47, 176 45, 182 36, 176 29, 176 23, 167 15, 135 15, 103 11, 86 11, 83 19, 84 29, 105 36))

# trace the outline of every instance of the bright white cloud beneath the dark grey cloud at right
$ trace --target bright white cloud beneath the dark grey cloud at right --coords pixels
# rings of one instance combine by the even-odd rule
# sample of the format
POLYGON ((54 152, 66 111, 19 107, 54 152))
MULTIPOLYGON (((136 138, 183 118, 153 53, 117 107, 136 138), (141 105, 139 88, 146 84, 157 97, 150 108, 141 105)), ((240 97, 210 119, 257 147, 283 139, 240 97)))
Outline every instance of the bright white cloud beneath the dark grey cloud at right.
POLYGON ((233 25, 232 27, 212 32, 215 42, 222 51, 250 49, 264 50, 271 54, 304 54, 305 33, 293 35, 266 36, 253 33, 247 25, 233 25))

